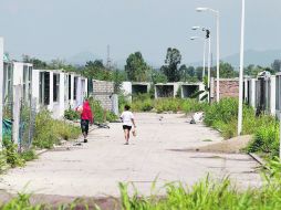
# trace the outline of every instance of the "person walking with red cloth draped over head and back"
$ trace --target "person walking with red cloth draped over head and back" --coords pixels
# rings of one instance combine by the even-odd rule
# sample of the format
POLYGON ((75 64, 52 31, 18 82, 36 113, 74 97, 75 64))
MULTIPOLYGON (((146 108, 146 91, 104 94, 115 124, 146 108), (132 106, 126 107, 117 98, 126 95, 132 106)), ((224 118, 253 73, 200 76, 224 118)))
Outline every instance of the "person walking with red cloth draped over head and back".
POLYGON ((89 124, 93 124, 93 113, 87 99, 84 101, 81 112, 81 130, 84 137, 84 143, 87 143, 89 124))

